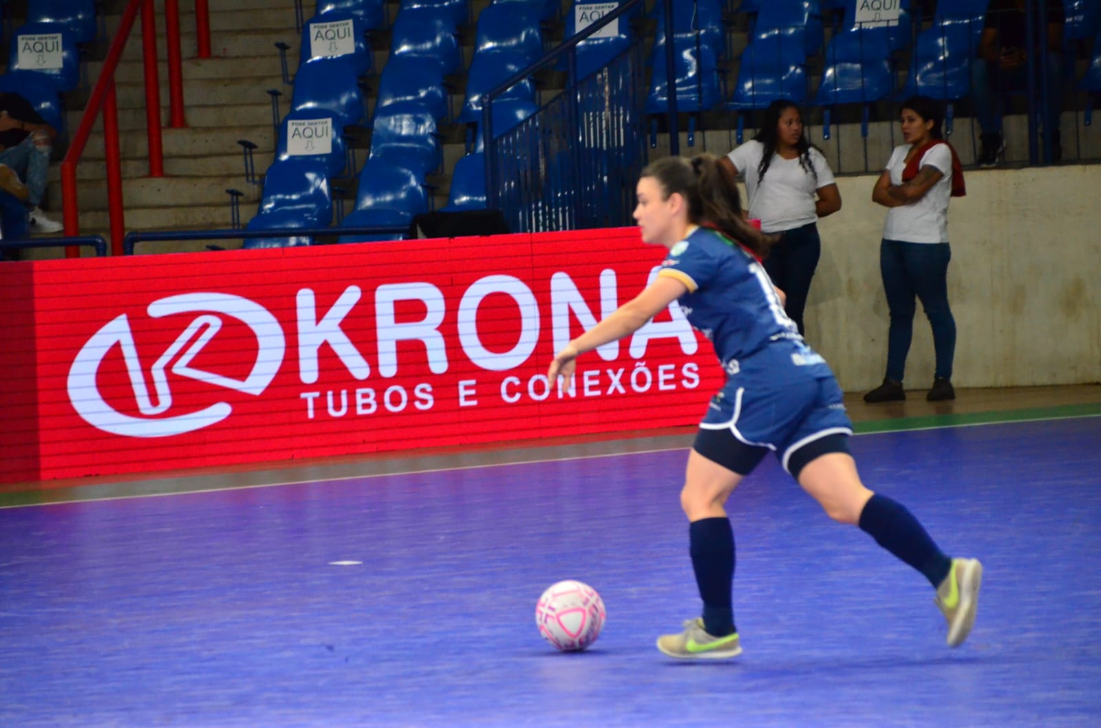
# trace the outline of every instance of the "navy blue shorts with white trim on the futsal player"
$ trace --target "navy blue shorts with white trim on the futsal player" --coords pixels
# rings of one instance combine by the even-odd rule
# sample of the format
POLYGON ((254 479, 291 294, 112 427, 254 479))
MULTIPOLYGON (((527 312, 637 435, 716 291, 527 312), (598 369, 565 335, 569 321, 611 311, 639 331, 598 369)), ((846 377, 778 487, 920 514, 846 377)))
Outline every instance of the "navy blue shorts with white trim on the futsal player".
POLYGON ((850 434, 852 422, 833 377, 763 382, 733 376, 711 398, 693 449, 741 475, 772 451, 798 477, 814 457, 848 452, 850 434))

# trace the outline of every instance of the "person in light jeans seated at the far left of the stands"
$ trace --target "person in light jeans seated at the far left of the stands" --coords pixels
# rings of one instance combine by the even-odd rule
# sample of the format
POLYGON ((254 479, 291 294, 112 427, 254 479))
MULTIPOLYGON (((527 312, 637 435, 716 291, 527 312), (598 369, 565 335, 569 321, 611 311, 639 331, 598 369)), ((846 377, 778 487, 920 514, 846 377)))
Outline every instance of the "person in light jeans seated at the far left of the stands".
MULTIPOLYGON (((26 185, 31 232, 59 232, 64 227, 39 208, 46 191, 50 153, 56 136, 57 130, 47 124, 26 99, 18 93, 0 92, 0 165, 14 170, 26 185)), ((10 176, 8 178, 10 181, 10 176)), ((21 197, 12 187, 4 186, 4 189, 21 197)))

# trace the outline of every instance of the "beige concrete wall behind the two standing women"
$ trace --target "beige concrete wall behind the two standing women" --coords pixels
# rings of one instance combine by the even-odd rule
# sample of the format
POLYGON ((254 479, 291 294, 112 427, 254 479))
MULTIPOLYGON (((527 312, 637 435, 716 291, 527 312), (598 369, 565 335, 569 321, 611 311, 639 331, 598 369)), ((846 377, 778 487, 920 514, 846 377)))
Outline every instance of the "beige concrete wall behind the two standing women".
MULTIPOLYGON (((1101 166, 966 173, 949 208, 949 300, 957 386, 1101 380, 1101 166)), ((879 271, 886 208, 875 175, 838 180, 843 207, 819 222, 822 257, 807 339, 847 391, 871 388, 886 364, 887 306, 879 271)), ((933 338, 918 306, 906 386, 933 382, 933 338)))

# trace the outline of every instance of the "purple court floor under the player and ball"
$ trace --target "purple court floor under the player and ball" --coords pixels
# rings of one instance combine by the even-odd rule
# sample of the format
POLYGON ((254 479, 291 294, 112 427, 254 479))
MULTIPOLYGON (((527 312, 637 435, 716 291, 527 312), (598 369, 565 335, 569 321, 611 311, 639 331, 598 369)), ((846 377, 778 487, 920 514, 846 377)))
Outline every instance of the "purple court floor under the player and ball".
POLYGON ((0 726, 1101 725, 1101 418, 861 435, 983 560, 970 640, 772 460, 729 510, 744 653, 698 614, 684 450, 0 509, 0 726), (588 652, 538 636, 577 578, 588 652))

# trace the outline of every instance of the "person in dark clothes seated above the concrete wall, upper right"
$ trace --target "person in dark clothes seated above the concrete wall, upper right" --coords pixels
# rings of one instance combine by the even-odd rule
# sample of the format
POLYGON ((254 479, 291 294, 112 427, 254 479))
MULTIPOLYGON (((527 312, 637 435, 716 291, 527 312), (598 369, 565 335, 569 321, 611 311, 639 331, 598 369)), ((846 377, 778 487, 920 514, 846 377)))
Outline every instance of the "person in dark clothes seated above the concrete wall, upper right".
MULTIPOLYGON (((1059 113, 1062 110, 1062 25, 1066 20, 1062 0, 1039 0, 1047 12, 1047 91, 1048 104, 1040 109, 1044 133, 1051 132, 1051 157, 1062 157, 1059 113)), ((999 109, 1002 95, 1028 89, 1029 45, 1033 58, 1039 51, 1039 3, 1035 5, 1032 43, 1025 37, 1025 0, 991 0, 979 40, 979 56, 971 64, 971 101, 982 129, 982 150, 975 159, 980 167, 993 167, 1005 152, 999 109)), ((1036 64, 1039 70, 1039 64, 1036 64)), ((1037 84, 1040 79, 1037 77, 1037 84)))

